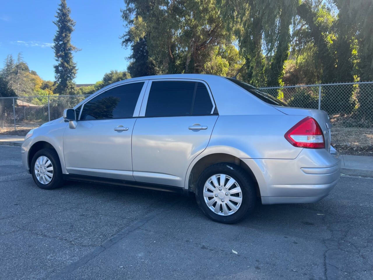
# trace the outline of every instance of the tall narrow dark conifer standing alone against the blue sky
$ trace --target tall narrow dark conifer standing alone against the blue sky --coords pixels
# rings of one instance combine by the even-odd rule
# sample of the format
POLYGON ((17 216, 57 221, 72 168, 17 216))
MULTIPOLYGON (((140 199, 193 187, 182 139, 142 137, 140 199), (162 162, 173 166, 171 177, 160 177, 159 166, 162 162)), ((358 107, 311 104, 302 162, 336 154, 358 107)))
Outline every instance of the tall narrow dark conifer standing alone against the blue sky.
POLYGON ((57 26, 54 35, 54 56, 57 65, 54 65, 56 94, 72 94, 75 90, 76 63, 73 61, 72 52, 78 49, 71 44, 71 33, 74 31, 75 21, 70 18, 70 8, 66 0, 61 0, 57 10, 57 18, 53 23, 57 26))

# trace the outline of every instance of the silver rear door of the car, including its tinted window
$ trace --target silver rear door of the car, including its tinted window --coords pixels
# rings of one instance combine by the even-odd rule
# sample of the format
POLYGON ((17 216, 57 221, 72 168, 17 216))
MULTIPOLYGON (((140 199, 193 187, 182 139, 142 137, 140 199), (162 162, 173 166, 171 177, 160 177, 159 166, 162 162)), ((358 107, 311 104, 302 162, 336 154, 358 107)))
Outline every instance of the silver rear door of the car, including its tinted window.
POLYGON ((188 166, 206 149, 217 118, 205 82, 149 81, 132 133, 135 180, 184 187, 188 166))

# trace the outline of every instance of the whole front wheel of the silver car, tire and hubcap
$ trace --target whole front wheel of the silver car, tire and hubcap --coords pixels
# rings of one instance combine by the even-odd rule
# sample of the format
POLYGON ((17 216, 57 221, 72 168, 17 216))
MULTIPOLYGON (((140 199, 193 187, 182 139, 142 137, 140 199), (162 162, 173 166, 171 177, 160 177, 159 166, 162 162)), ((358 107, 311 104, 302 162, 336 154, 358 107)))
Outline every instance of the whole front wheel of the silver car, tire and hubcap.
POLYGON ((56 189, 63 184, 59 157, 54 149, 41 149, 31 161, 31 174, 41 189, 56 189))

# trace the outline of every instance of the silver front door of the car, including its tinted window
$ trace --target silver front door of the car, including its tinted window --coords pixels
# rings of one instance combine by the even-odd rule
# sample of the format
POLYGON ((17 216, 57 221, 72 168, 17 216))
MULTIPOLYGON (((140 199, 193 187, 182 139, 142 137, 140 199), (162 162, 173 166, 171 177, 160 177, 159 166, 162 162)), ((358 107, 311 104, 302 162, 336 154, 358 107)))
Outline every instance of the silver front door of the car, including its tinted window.
POLYGON ((119 85, 84 103, 78 125, 63 135, 70 174, 134 180, 131 136, 145 88, 143 81, 119 85))

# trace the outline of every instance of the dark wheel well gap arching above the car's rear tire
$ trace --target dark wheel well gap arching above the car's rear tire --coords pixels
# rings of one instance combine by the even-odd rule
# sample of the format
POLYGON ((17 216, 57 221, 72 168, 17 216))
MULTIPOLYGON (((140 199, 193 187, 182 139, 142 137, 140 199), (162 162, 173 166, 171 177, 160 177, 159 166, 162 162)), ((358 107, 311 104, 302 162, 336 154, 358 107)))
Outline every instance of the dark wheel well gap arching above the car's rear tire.
POLYGON ((213 153, 211 155, 204 156, 200 160, 198 160, 195 165, 193 166, 190 175, 189 175, 189 183, 188 183, 188 190, 189 192, 195 193, 196 184, 198 178, 200 177, 201 173, 210 165, 217 164, 220 162, 230 162, 232 164, 238 165, 242 169, 244 169, 247 174, 251 177, 255 184, 256 195, 260 197, 260 189, 258 185, 258 181, 255 178, 253 171, 239 158, 235 156, 228 155, 225 153, 213 153))

